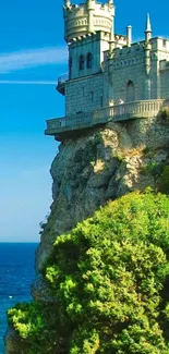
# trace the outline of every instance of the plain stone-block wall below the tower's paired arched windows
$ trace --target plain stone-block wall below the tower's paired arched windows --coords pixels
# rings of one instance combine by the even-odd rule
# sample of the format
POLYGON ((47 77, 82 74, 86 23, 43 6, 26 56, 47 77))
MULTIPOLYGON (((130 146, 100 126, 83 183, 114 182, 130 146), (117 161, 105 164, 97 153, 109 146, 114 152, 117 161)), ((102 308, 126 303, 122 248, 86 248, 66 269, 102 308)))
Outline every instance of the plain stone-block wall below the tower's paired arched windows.
POLYGON ((68 81, 65 84, 65 115, 88 112, 102 106, 104 75, 68 81))

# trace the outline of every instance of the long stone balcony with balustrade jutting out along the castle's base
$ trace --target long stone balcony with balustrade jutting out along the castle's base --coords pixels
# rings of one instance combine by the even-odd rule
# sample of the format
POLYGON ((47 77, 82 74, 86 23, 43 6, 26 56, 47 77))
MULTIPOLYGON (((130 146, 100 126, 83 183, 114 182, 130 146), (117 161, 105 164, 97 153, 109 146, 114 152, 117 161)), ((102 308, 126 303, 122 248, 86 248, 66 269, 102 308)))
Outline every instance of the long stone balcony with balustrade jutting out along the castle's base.
POLYGON ((53 135, 58 141, 77 131, 106 124, 110 121, 121 122, 135 118, 154 118, 157 117, 162 107, 164 99, 141 100, 104 107, 92 112, 81 112, 70 117, 62 117, 47 120, 46 135, 53 135))

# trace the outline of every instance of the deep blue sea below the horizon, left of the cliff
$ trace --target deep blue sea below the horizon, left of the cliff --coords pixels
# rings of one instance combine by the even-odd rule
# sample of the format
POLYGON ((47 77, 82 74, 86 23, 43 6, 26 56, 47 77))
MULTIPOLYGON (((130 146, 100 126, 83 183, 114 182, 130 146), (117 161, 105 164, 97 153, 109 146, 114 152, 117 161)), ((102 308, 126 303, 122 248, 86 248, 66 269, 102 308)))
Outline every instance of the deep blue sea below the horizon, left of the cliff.
POLYGON ((36 243, 0 243, 0 354, 4 354, 7 309, 31 300, 36 243))

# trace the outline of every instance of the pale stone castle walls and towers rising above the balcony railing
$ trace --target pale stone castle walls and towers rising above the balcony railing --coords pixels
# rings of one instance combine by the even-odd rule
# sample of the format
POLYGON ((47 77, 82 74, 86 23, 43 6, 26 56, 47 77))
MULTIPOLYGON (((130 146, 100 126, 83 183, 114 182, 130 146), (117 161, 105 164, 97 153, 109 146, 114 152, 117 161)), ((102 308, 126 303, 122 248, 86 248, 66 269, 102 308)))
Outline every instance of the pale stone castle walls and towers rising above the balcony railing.
POLYGON ((116 35, 112 0, 86 0, 75 5, 64 0, 69 78, 65 115, 89 112, 123 102, 169 98, 169 40, 153 38, 147 16, 145 36, 132 42, 116 35))

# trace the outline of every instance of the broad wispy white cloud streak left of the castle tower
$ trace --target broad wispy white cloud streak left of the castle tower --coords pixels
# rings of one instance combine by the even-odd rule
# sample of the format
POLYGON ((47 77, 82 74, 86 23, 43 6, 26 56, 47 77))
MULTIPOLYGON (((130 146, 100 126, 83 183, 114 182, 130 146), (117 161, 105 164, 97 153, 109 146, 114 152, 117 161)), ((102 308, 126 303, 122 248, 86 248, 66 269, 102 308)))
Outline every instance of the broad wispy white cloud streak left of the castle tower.
POLYGON ((0 74, 67 62, 67 48, 39 48, 0 54, 0 74))

